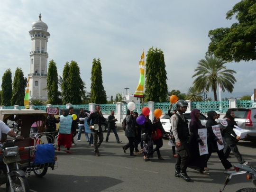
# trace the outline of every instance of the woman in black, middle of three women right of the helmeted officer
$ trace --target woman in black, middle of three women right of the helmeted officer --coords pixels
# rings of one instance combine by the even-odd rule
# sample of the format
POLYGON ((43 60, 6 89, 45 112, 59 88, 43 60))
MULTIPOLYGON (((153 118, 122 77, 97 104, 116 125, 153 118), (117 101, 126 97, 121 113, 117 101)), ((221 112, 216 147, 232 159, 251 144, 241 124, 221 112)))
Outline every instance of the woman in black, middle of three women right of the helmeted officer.
POLYGON ((232 171, 231 169, 232 165, 227 160, 227 158, 224 156, 223 149, 219 150, 217 142, 219 145, 223 145, 223 143, 219 140, 219 138, 213 133, 212 126, 218 125, 218 123, 215 121, 217 118, 217 113, 214 110, 210 110, 207 113, 208 120, 206 122, 206 128, 207 128, 207 145, 208 145, 208 154, 206 155, 205 160, 205 170, 207 170, 207 162, 210 158, 211 153, 217 152, 219 156, 219 160, 221 161, 222 165, 226 169, 226 171, 232 171))

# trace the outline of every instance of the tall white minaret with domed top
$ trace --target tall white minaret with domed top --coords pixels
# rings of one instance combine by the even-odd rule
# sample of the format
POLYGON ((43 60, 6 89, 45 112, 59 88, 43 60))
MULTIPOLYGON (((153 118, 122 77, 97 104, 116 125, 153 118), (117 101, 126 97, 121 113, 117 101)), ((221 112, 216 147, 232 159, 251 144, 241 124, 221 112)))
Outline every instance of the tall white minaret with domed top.
POLYGON ((29 35, 32 41, 30 56, 29 76, 29 100, 47 101, 46 79, 47 79, 47 42, 50 33, 47 32, 48 26, 41 20, 32 23, 32 30, 29 35))

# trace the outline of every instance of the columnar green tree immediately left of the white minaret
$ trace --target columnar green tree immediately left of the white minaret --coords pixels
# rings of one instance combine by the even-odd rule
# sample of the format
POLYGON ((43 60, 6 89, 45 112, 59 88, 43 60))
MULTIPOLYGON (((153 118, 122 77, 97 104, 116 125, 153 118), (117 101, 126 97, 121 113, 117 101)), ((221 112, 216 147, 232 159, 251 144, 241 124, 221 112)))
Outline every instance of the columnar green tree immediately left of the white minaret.
POLYGON ((21 68, 17 67, 13 84, 12 84, 12 98, 11 98, 11 106, 20 105, 24 106, 24 97, 27 86, 27 78, 24 78, 24 73, 21 68))

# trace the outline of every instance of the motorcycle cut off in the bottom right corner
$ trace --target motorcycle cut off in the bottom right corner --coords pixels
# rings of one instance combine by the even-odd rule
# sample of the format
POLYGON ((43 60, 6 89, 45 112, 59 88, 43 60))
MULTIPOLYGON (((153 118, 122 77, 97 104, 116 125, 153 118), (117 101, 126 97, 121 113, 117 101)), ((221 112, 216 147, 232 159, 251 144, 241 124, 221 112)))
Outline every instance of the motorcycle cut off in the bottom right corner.
MULTIPOLYGON (((256 167, 255 166, 248 166, 248 165, 234 165, 235 171, 228 171, 226 174, 229 174, 226 178, 226 181, 224 182, 224 187, 219 192, 223 192, 226 185, 229 183, 229 181, 232 179, 234 175, 240 175, 240 174, 247 174, 247 179, 250 180, 254 177, 256 177, 256 167)), ((253 179, 252 183, 256 186, 256 180, 253 179)), ((243 188, 239 189, 237 192, 256 192, 256 188, 243 188)))

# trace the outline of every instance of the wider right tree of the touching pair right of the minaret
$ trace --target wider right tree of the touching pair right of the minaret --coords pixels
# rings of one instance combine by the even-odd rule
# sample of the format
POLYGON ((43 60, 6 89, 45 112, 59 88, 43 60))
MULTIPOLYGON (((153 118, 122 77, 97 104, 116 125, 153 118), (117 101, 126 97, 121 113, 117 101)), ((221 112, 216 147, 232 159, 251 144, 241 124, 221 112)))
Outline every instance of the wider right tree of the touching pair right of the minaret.
MULTIPOLYGON (((63 78, 64 80, 64 78, 63 78)), ((66 90, 66 99, 68 103, 72 104, 81 104, 82 97, 85 97, 85 83, 80 77, 80 68, 75 61, 70 62, 68 77, 66 79, 67 90, 66 90)))

